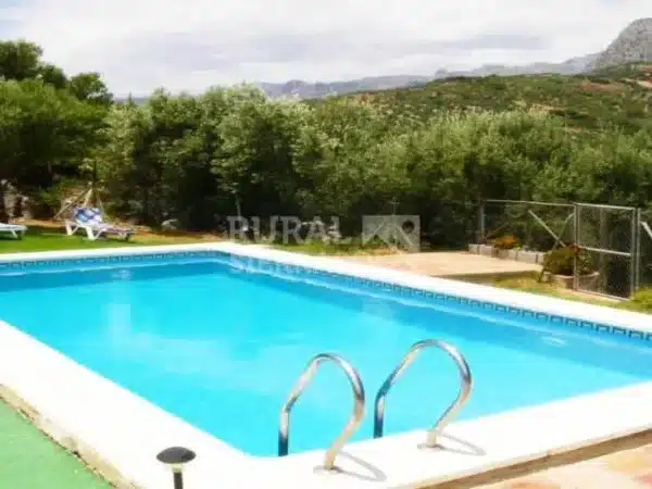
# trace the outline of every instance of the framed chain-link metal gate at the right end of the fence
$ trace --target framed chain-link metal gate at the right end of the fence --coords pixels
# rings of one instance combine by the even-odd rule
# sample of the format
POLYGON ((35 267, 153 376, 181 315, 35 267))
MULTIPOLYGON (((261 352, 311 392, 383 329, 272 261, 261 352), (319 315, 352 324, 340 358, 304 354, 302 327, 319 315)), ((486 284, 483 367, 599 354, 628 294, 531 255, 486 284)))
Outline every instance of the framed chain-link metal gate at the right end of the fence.
MULTIPOLYGON (((639 284, 636 208, 575 204, 575 290, 627 298, 639 284)), ((652 236, 651 236, 652 238, 652 236)))

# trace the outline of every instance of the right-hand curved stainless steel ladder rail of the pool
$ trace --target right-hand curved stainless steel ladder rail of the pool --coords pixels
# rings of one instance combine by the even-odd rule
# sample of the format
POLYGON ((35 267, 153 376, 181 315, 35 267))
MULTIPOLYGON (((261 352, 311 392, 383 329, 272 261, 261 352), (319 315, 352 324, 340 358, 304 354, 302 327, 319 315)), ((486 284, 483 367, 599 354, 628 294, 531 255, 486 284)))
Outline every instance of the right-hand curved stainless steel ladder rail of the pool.
POLYGON ((437 444, 437 437, 441 434, 443 428, 451 422, 453 416, 462 409, 466 400, 468 399, 468 394, 471 393, 471 388, 473 386, 473 378, 471 376, 471 368, 464 359, 464 355, 450 343, 446 341, 437 340, 437 339, 427 339, 423 341, 417 341, 414 343, 408 353, 399 364, 394 368, 394 371, 387 377, 380 389, 378 389, 378 393, 376 394, 376 400, 374 402, 374 438, 380 438, 383 436, 383 427, 385 423, 385 398, 391 387, 396 384, 397 379, 401 376, 401 374, 412 364, 416 355, 424 349, 428 347, 438 347, 444 352, 447 352, 457 365, 460 369, 460 392, 455 400, 448 406, 448 409, 443 412, 443 414, 437 419, 435 425, 428 430, 426 437, 426 447, 435 447, 437 444))

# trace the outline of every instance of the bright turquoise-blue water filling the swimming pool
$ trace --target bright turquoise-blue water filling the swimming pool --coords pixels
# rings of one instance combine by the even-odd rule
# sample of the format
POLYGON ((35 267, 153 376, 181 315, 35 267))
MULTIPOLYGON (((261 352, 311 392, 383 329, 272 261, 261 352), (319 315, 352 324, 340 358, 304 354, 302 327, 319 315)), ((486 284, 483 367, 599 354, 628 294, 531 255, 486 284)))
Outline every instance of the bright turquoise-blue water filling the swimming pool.
MULTIPOLYGON (((111 266, 3 271, 0 318, 255 455, 276 454, 279 409, 310 358, 324 351, 348 359, 366 388, 353 440, 372 437, 378 387, 425 338, 455 344, 472 367, 461 418, 652 380, 652 342, 536 315, 314 274, 243 273, 218 255, 111 266)), ((430 426, 457 388, 451 360, 422 352, 389 393, 386 434, 430 426)), ((351 405, 342 373, 324 364, 292 411, 290 451, 327 446, 351 405)))

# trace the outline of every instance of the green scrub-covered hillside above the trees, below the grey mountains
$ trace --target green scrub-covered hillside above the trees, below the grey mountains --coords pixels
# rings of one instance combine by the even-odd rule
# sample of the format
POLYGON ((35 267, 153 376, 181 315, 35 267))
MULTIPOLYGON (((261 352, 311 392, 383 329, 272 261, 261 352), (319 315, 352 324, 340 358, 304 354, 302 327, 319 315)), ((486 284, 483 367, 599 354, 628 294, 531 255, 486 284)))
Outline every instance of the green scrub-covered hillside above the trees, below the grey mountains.
MULTIPOLYGON (((342 96, 394 114, 428 117, 437 110, 541 110, 570 125, 626 130, 652 128, 652 63, 609 67, 587 75, 456 77, 422 87, 342 96)), ((318 102, 311 102, 318 103, 318 102)))

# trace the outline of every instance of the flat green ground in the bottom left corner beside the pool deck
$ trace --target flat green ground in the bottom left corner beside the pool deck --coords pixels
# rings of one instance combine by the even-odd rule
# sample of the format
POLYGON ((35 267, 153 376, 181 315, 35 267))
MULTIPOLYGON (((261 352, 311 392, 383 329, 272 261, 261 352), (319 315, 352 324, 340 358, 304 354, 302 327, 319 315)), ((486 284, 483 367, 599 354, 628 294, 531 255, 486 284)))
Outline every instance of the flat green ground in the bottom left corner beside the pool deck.
POLYGON ((7 489, 109 489, 72 453, 0 401, 0 487, 7 489))

